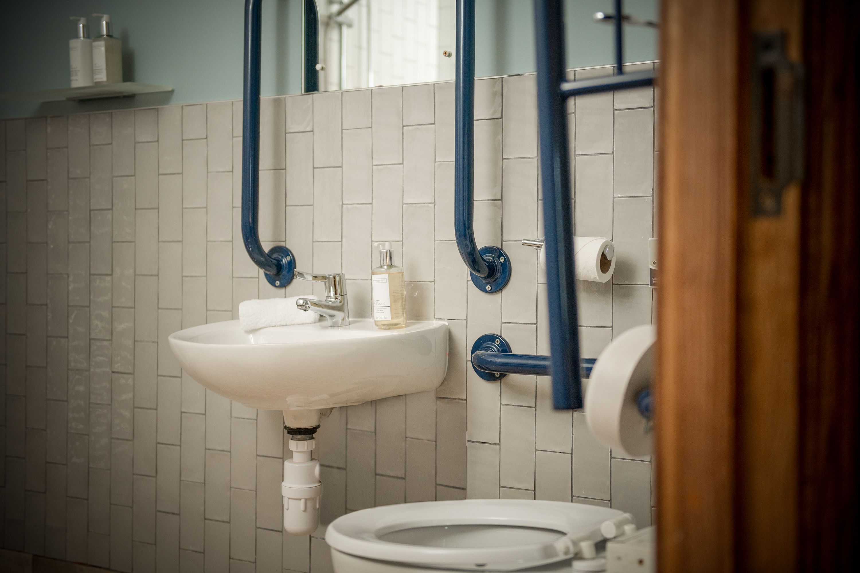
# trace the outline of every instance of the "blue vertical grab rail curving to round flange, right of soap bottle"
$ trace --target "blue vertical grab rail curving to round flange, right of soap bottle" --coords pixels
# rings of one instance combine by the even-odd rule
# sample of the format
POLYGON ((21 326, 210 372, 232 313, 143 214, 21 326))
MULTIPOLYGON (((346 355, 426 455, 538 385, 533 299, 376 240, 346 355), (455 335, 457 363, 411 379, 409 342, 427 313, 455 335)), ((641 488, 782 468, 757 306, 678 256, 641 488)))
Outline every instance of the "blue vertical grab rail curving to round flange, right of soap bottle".
POLYGON ((475 0, 457 0, 457 72, 454 109, 454 231, 460 257, 472 283, 482 292, 505 288, 511 259, 500 247, 475 242, 473 180, 475 174, 475 0))

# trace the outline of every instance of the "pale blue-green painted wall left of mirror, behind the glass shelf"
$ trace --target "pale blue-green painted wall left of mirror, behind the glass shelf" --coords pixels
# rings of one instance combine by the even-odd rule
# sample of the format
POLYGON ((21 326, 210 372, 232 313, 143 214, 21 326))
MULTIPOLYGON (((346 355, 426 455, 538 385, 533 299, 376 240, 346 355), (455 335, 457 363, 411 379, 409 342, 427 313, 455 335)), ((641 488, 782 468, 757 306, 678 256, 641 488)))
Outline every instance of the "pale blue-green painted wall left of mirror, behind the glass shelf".
MULTIPOLYGON (((124 79, 173 94, 37 104, 0 101, 2 117, 73 113, 242 97, 243 0, 28 0, 3 3, 0 93, 69 85, 70 15, 107 12, 123 42, 124 79)), ((301 0, 263 1, 263 95, 301 88, 301 0)))

